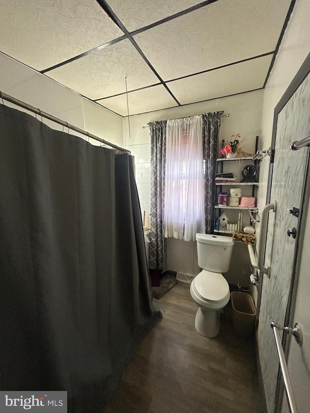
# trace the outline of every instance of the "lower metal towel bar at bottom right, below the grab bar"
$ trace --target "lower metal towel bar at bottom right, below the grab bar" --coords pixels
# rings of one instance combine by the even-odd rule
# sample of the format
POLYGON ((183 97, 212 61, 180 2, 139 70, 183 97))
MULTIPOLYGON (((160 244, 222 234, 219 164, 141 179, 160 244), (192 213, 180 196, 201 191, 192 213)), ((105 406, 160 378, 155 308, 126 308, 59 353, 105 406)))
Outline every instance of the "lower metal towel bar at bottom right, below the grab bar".
POLYGON ((299 324, 297 323, 294 325, 294 328, 290 328, 290 327, 282 327, 277 322, 274 322, 274 321, 271 322, 271 328, 273 329, 273 332, 275 334, 279 362, 280 362, 283 381, 285 385, 289 409, 291 413, 297 413, 292 384, 291 384, 288 368, 287 368, 286 361, 285 361, 285 356, 284 356, 284 351, 283 351, 283 347, 282 347, 282 343, 281 343, 281 339, 279 335, 279 330, 283 330, 286 333, 293 335, 298 344, 300 344, 302 341, 301 330, 300 330, 299 324))

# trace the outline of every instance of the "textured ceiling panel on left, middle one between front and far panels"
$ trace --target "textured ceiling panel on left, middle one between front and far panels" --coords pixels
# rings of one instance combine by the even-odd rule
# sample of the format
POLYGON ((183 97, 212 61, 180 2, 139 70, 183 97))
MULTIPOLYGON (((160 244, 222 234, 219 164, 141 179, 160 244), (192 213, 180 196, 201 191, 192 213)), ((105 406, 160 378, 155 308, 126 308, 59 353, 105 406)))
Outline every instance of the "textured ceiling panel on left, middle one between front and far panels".
POLYGON ((90 99, 100 99, 158 83, 129 40, 90 53, 47 72, 47 76, 90 99))

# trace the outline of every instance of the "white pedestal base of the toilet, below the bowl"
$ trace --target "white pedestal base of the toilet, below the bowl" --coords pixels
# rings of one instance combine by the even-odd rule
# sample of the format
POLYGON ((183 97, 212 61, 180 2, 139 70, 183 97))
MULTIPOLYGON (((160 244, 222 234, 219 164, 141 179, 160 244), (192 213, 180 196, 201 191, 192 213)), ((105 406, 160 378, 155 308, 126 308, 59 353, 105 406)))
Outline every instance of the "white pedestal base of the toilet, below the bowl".
POLYGON ((216 337, 221 328, 220 310, 198 307, 195 327, 203 337, 216 337))

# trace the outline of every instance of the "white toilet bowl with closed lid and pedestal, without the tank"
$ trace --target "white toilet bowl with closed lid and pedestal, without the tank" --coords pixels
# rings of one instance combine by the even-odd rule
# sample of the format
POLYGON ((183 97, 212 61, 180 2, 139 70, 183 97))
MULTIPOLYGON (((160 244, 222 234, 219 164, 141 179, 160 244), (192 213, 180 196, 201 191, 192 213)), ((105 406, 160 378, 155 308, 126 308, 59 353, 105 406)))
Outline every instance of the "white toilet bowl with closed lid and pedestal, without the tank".
POLYGON ((220 330, 220 310, 230 298, 228 282, 220 273, 202 270, 192 281, 190 294, 198 304, 196 330, 204 337, 216 337, 220 330))

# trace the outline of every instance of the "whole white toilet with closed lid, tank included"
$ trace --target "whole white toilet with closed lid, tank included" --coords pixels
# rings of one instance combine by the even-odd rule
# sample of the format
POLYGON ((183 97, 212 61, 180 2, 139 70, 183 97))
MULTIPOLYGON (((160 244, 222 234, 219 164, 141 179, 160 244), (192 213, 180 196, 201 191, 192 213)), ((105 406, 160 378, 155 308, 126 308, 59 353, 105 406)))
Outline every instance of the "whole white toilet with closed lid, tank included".
POLYGON ((228 282, 222 273, 229 270, 233 240, 212 234, 196 234, 198 265, 202 268, 190 285, 199 308, 195 327, 204 337, 215 337, 220 330, 220 310, 229 302, 228 282))

